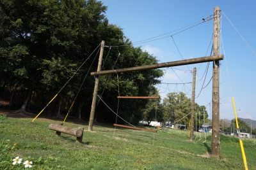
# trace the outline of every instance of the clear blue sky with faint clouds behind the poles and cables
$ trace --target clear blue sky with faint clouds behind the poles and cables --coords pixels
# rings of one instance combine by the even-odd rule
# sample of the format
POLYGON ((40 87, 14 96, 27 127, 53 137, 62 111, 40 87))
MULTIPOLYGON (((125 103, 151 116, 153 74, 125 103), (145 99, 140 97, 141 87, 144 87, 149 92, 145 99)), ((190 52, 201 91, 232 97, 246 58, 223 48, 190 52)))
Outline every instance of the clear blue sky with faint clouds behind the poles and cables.
MULTIPOLYGON (((220 6, 222 11, 220 54, 225 52, 225 60, 221 60, 220 69, 220 118, 234 118, 231 101, 233 96, 237 116, 256 120, 256 1, 103 0, 102 3, 108 6, 106 16, 109 23, 121 27, 125 36, 134 43, 134 46, 141 46, 143 50, 147 50, 148 53, 156 56, 159 63, 182 60, 182 58, 204 57, 205 54, 209 56, 211 47, 208 52, 207 49, 212 38, 212 20, 196 25, 179 34, 175 34, 178 31, 171 31, 201 22, 202 18, 213 14, 215 6, 220 6), (252 50, 228 20, 236 27, 252 50), (171 33, 166 34, 168 32, 171 33), (165 34, 158 37, 162 39, 148 41, 147 43, 136 43, 161 34, 165 34), (173 39, 172 34, 175 34, 173 39), (163 38, 165 36, 168 36, 168 38, 163 38)), ((165 97, 168 92, 183 91, 188 93, 188 97, 191 97, 191 92, 188 90, 191 88, 190 84, 186 84, 186 87, 188 87, 186 89, 184 85, 167 85, 164 83, 191 82, 193 67, 198 70, 196 75, 197 97, 204 83, 205 77, 203 75, 207 63, 163 69, 164 72, 166 71, 166 74, 161 78, 163 84, 157 85, 161 96, 165 97)), ((211 77, 212 62, 207 71, 204 87, 211 80, 211 77)), ((195 102, 207 106, 207 111, 210 114, 209 103, 211 103, 211 100, 212 81, 202 90, 195 102)))

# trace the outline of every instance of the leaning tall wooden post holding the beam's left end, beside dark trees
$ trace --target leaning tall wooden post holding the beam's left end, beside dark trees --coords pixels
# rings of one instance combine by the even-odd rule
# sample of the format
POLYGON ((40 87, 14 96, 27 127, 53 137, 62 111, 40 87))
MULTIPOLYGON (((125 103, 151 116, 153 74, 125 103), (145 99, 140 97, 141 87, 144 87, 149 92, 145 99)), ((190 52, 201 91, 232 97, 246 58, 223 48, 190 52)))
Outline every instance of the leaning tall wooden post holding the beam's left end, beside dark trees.
MULTIPOLYGON (((102 40, 101 47, 100 47, 100 56, 99 56, 97 71, 100 71, 100 69, 101 69, 102 56, 103 56, 103 51, 104 51, 104 44, 105 44, 105 42, 102 40)), ((92 108, 91 108, 88 131, 92 131, 94 114, 95 114, 96 99, 97 99, 97 94, 98 94, 98 87, 99 87, 99 75, 95 76, 95 85, 94 85, 94 91, 93 91, 92 108)))

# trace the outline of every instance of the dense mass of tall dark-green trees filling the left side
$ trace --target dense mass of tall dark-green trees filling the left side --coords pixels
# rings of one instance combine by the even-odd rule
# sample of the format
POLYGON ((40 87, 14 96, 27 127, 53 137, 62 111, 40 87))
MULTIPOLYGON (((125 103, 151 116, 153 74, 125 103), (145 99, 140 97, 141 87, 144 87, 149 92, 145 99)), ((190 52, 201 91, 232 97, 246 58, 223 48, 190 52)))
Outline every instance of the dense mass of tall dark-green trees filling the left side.
MULTIPOLYGON (((106 10, 107 7, 96 0, 0 1, 1 87, 51 94, 61 89, 55 101, 60 101, 61 95, 74 97, 86 74, 97 70, 97 50, 66 83, 102 40, 106 44, 102 70, 157 64, 156 57, 132 46, 122 28, 108 23, 106 10), (110 46, 118 47, 111 50, 110 46)), ((148 96, 147 88, 159 83, 157 78, 162 75, 161 69, 152 69, 118 74, 118 77, 116 74, 100 76, 99 94, 117 110, 116 96, 148 96)), ((93 76, 86 78, 76 101, 83 103, 85 114, 90 113, 94 81, 93 76)), ((124 105, 120 115, 136 124, 143 118, 139 111, 147 102, 120 101, 120 104, 124 105)), ((81 105, 76 105, 79 106, 77 117, 81 118, 81 105)), ((58 115, 60 102, 54 107, 58 115)), ((20 111, 24 108, 26 100, 20 111)), ((115 115, 101 102, 96 113, 98 120, 115 121, 115 115)))

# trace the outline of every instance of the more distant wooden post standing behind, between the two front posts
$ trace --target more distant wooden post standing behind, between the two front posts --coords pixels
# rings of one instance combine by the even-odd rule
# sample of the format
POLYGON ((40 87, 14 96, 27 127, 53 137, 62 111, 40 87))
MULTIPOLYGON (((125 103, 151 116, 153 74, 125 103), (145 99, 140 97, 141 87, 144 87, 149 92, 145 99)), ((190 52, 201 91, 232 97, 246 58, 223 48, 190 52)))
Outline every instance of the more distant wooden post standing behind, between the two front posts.
POLYGON ((195 91, 196 91, 196 67, 193 69, 193 85, 191 99, 191 122, 190 122, 190 141, 194 138, 194 111, 195 111, 195 91))

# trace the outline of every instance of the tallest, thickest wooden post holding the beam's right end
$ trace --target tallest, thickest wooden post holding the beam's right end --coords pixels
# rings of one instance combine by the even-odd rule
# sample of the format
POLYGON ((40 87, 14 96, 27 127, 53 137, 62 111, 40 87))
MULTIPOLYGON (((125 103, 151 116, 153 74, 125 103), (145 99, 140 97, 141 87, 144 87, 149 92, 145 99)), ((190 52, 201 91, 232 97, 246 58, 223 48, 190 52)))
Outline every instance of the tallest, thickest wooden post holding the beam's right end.
MULTIPOLYGON (((220 7, 214 8, 213 53, 220 53, 220 7)), ((220 157, 220 61, 215 60, 212 68, 212 148, 211 154, 220 157)))

